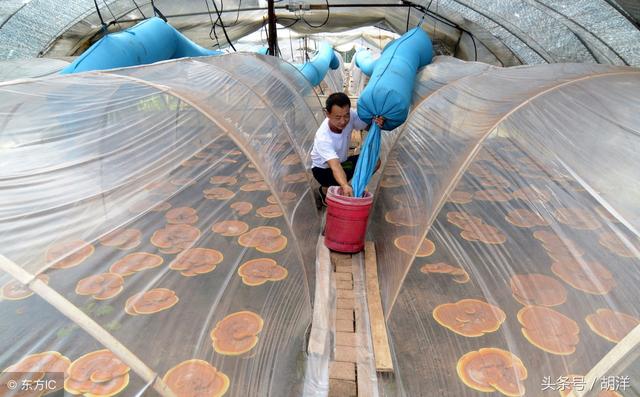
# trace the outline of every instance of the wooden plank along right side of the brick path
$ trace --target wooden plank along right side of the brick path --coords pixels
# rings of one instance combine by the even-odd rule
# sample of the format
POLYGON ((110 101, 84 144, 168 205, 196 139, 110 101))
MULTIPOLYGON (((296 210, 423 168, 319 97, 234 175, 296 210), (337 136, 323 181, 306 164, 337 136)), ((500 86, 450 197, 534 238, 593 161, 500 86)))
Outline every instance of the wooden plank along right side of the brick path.
POLYGON ((367 287, 367 306, 369 307, 369 321, 371 322, 371 340, 373 354, 376 360, 376 371, 393 372, 393 361, 389 349, 387 327, 382 312, 382 299, 378 286, 378 268, 376 263, 376 249, 373 241, 367 241, 364 249, 365 280, 367 287))

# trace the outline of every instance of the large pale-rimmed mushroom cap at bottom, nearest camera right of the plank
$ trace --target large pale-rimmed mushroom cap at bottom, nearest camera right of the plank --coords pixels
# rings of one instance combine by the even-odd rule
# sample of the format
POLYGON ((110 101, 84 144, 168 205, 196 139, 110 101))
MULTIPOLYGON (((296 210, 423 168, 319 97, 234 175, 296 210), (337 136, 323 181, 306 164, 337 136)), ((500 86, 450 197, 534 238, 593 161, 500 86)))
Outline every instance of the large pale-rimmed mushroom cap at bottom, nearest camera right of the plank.
POLYGON ((527 378, 527 369, 511 352, 493 347, 472 351, 458 360, 456 370, 472 389, 485 393, 499 391, 510 397, 525 393, 522 381, 527 378))

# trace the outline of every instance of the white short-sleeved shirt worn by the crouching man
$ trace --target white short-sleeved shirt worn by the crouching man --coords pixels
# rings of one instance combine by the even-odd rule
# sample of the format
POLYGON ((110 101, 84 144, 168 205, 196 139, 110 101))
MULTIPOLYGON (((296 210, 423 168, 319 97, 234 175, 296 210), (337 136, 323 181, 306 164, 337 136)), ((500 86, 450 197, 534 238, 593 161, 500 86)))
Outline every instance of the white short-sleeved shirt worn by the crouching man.
POLYGON ((325 117, 316 136, 313 140, 311 150, 311 166, 329 168, 328 160, 339 159, 340 162, 347 161, 349 157, 349 141, 354 129, 362 130, 367 127, 367 123, 360 120, 358 113, 349 109, 349 123, 342 129, 340 134, 336 134, 329 128, 329 119, 325 117))

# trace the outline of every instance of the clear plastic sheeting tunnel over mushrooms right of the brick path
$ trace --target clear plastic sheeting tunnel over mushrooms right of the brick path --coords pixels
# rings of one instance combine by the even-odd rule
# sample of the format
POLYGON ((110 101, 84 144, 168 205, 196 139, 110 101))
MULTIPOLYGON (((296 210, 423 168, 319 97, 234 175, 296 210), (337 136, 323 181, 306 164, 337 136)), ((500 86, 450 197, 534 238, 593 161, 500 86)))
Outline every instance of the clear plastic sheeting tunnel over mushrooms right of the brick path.
MULTIPOLYGON (((558 395, 640 324, 640 73, 470 66, 414 109, 376 193, 382 390, 558 395)), ((600 375, 637 395, 627 365, 600 375)))

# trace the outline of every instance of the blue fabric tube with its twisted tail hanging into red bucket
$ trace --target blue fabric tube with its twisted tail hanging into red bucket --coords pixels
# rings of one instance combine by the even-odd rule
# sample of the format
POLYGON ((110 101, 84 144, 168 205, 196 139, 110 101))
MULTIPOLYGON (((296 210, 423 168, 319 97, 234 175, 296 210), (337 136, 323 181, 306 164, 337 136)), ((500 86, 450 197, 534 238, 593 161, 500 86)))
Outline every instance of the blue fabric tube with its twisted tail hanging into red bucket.
MULTIPOLYGON (((429 36, 416 27, 389 43, 375 62, 369 83, 358 99, 358 116, 370 122, 384 117, 385 130, 392 130, 407 119, 418 69, 433 57, 429 36)), ((380 155, 380 129, 374 123, 362 144, 353 175, 353 194, 362 197, 380 155)))

